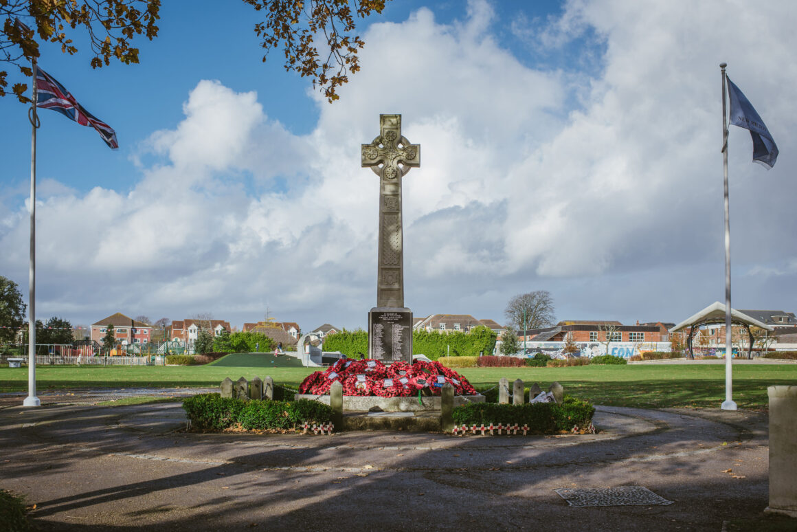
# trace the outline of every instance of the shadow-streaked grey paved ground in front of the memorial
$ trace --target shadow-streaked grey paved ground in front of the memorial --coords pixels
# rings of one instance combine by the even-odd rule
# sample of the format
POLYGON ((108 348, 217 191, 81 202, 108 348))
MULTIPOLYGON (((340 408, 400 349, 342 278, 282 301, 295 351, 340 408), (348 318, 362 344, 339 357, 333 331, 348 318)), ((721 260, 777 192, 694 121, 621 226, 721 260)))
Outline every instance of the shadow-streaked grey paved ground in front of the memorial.
POLYGON ((720 532, 767 506, 766 423, 599 408, 597 435, 198 434, 176 432, 179 404, 10 407, 0 487, 37 505, 41 530, 720 532), (553 491, 618 486, 673 504, 578 508, 553 491))

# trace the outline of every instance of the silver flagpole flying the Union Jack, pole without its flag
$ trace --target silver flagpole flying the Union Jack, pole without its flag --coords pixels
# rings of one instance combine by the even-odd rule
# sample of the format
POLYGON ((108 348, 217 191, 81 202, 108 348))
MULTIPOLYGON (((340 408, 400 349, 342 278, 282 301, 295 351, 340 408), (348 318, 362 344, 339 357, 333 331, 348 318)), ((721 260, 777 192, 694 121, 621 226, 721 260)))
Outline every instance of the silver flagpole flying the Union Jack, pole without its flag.
POLYGON ((28 305, 28 396, 22 406, 37 407, 41 401, 36 396, 36 128, 39 127, 36 114, 38 93, 36 89, 36 58, 33 65, 33 107, 30 109, 30 271, 28 305))

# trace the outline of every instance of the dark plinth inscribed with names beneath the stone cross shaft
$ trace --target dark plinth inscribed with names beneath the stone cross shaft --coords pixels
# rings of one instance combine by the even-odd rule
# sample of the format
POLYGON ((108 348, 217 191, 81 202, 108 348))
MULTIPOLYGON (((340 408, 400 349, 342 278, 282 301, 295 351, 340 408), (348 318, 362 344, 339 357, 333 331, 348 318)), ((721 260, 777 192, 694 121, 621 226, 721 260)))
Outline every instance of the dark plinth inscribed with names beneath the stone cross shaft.
POLYGON ((368 358, 412 364, 412 311, 377 306, 368 313, 368 358))

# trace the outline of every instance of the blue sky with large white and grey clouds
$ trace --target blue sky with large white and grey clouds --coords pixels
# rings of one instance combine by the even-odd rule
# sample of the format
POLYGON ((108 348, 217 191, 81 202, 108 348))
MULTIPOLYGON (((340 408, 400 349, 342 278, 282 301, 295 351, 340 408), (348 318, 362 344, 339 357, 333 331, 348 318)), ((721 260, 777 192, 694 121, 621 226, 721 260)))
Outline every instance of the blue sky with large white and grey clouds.
MULTIPOLYGON (((328 104, 243 2, 164 2, 139 65, 40 65, 116 128, 40 110, 37 317, 366 325, 378 188, 359 144, 400 112, 406 305, 504 321, 681 321, 724 298, 721 61, 780 148, 732 128, 733 306, 797 310, 792 2, 422 2, 360 22, 363 70, 328 104), (724 18, 716 14, 724 11, 724 18), (766 31, 748 31, 753 25, 766 31)), ((77 42, 80 47, 80 42, 77 42)), ((0 101, 0 274, 27 294, 29 123, 0 101)))

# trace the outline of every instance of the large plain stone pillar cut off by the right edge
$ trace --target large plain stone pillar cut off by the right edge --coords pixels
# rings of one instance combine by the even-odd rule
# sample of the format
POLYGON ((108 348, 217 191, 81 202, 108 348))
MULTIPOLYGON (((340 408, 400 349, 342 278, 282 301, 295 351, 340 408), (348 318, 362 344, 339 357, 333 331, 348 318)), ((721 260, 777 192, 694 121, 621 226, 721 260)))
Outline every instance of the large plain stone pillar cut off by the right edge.
POLYGON ((797 517, 797 386, 770 386, 769 506, 772 514, 797 517))

